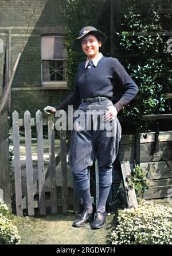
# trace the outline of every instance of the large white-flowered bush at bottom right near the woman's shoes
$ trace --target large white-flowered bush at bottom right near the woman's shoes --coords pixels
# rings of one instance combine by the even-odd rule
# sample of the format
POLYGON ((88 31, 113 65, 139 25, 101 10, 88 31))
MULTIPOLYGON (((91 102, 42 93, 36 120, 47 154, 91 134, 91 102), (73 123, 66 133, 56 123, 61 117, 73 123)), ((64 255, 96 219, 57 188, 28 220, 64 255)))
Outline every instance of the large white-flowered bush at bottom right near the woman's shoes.
POLYGON ((137 209, 119 213, 111 234, 112 244, 172 244, 172 209, 142 201, 137 209))

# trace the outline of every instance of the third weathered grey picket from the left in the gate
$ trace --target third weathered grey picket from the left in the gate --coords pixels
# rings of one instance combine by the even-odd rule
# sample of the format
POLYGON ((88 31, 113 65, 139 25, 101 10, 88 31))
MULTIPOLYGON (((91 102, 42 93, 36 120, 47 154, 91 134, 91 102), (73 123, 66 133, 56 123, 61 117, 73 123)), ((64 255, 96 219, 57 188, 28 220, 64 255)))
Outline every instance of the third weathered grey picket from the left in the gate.
POLYGON ((37 127, 37 159, 38 159, 38 186, 40 200, 40 214, 46 214, 45 208, 45 172, 44 172, 44 145, 43 145, 43 129, 42 129, 42 113, 40 110, 36 112, 37 127))

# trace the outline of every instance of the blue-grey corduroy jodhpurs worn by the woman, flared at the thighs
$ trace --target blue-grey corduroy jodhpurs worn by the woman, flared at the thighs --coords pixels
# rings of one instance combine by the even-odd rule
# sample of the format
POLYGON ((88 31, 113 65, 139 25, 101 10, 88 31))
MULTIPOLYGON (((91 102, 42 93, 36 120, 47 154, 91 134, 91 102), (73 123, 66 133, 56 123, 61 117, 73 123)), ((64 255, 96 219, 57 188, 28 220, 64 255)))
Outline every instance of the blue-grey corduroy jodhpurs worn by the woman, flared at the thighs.
POLYGON ((83 111, 80 118, 83 118, 85 123, 81 124, 81 119, 75 120, 77 130, 73 130, 69 155, 73 179, 79 191, 89 189, 88 167, 93 164, 94 159, 97 159, 99 168, 99 185, 106 187, 112 184, 112 164, 118 153, 121 138, 119 120, 115 117, 106 127, 100 122, 101 114, 98 115, 97 122, 94 115, 88 115, 88 111, 93 110, 104 113, 112 105, 112 101, 107 99, 91 104, 82 102, 79 106, 78 110, 83 111), (90 127, 91 129, 88 129, 90 127))

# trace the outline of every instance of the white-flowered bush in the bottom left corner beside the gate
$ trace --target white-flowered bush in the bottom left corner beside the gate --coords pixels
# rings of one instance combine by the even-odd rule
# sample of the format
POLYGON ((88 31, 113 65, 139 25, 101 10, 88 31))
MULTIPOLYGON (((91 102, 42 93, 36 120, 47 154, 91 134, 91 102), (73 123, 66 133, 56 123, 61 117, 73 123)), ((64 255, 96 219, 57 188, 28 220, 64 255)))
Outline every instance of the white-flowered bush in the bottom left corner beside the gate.
POLYGON ((17 227, 7 219, 9 215, 8 206, 0 201, 0 244, 19 244, 21 238, 18 235, 17 227))

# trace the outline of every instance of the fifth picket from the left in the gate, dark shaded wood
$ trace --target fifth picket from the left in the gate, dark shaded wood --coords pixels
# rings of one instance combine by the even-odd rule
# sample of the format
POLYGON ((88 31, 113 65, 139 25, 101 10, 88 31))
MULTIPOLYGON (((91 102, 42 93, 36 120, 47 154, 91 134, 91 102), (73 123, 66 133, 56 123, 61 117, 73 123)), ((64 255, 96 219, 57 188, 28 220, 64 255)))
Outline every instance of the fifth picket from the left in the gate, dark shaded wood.
POLYGON ((66 131, 60 130, 61 175, 62 175, 62 212, 68 212, 68 180, 67 180, 67 141, 66 131))

